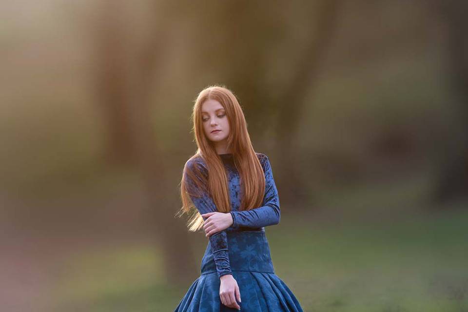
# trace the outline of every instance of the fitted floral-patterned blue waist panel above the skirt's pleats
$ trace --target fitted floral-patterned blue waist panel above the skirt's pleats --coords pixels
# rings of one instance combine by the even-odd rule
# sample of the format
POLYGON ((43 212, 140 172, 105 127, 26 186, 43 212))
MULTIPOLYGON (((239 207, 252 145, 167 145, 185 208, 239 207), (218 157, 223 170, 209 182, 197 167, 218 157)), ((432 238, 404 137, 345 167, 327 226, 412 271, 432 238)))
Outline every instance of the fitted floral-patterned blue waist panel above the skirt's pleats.
MULTIPOLYGON (((270 246, 264 228, 256 231, 226 231, 231 271, 274 273, 270 246)), ((208 242, 201 261, 201 273, 216 272, 208 242)))

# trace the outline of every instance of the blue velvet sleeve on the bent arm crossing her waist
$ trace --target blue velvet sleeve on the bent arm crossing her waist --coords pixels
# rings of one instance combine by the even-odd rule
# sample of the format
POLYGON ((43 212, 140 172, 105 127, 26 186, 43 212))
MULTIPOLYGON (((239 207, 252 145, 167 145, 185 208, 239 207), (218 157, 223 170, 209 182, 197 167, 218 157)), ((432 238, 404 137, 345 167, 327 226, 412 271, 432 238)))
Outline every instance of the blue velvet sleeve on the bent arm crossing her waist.
MULTIPOLYGON (((262 154, 263 155, 263 154, 262 154)), ((246 211, 231 211, 231 227, 260 228, 278 224, 280 220, 279 196, 273 179, 273 171, 268 156, 260 159, 265 173, 265 196, 263 206, 246 211)))

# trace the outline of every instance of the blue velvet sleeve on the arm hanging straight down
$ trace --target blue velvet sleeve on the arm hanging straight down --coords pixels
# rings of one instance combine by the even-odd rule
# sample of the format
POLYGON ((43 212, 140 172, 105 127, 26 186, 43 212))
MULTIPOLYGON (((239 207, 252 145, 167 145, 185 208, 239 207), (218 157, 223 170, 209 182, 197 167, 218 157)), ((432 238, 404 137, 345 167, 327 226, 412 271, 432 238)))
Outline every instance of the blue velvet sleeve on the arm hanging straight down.
MULTIPOLYGON (((187 164, 188 166, 194 166, 195 161, 191 160, 187 164)), ((196 163, 200 172, 202 172, 205 177, 208 175, 208 171, 206 168, 203 167, 202 164, 196 163)), ((201 188, 197 187, 195 182, 185 174, 187 186, 190 189, 189 194, 198 194, 198 196, 190 195, 192 202, 194 203, 198 212, 203 215, 210 212, 217 212, 216 205, 213 202, 211 195, 208 194, 206 190, 202 190, 201 188)), ((206 220, 207 218, 203 218, 206 220)), ((218 273, 218 277, 221 277, 226 274, 232 274, 231 265, 229 263, 229 249, 228 249, 228 239, 226 235, 226 231, 220 231, 215 233, 209 237, 211 249, 213 253, 213 258, 216 264, 216 272, 218 273)))

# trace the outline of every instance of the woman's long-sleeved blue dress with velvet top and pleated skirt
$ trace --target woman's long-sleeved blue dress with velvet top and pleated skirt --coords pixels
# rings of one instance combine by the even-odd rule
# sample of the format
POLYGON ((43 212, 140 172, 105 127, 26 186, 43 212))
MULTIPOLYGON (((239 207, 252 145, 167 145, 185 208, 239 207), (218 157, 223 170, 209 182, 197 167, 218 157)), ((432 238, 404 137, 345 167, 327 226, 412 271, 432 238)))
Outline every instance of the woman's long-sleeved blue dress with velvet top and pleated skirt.
MULTIPOLYGON (((256 155, 265 173, 265 196, 262 207, 248 211, 238 211, 241 185, 233 155, 219 155, 228 176, 232 204, 230 214, 234 223, 226 230, 210 236, 201 260, 201 275, 190 286, 175 312, 238 311, 222 304, 219 297, 219 277, 225 274, 232 274, 239 286, 242 301, 237 304, 240 311, 303 311, 292 291, 274 273, 264 227, 279 223, 279 198, 268 156, 260 153, 256 155)), ((205 178, 208 176, 201 157, 190 159, 186 166, 205 178)), ((202 194, 200 197, 191 196, 200 214, 216 212, 216 206, 206 190, 197 188, 189 176, 185 177, 191 192, 196 188, 196 194, 202 194)))

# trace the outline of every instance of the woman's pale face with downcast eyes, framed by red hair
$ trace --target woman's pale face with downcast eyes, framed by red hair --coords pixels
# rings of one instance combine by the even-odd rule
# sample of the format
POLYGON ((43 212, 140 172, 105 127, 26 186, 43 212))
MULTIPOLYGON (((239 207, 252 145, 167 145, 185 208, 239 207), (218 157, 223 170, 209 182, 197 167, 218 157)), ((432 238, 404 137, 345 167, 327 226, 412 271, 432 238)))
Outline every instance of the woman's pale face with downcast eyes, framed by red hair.
POLYGON ((226 142, 229 136, 229 121, 224 107, 215 99, 201 105, 201 121, 205 136, 215 143, 226 142))

